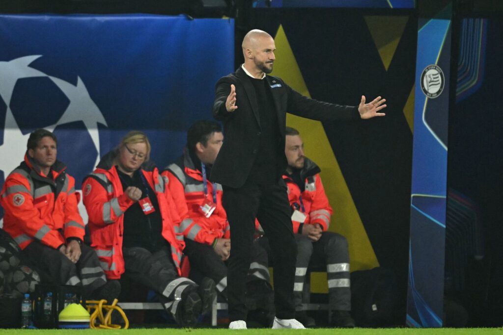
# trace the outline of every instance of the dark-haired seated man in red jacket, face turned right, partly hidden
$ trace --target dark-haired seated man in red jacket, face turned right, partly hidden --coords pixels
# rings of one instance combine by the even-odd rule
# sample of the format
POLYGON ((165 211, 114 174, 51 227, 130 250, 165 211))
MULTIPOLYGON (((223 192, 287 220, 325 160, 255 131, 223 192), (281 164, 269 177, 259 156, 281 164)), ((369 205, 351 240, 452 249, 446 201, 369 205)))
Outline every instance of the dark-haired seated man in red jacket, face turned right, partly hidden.
MULTIPOLYGON (((229 223, 222 206, 222 186, 207 179, 222 143, 220 124, 197 121, 187 133, 184 154, 167 166, 162 175, 170 180, 168 187, 182 217, 184 253, 189 257, 191 269, 212 278, 217 290, 227 298, 225 261, 232 252, 229 223)), ((269 287, 267 254, 256 243, 252 252, 248 293, 253 291, 252 287, 269 287)))

